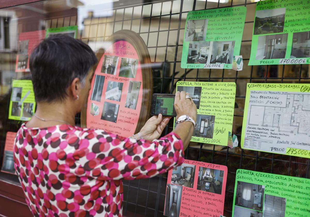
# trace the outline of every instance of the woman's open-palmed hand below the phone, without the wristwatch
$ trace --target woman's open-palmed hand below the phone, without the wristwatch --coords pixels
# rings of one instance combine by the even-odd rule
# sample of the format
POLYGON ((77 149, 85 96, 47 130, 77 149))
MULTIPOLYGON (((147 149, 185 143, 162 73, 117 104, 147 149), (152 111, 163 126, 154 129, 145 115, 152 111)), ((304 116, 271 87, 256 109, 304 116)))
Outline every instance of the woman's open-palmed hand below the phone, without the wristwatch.
POLYGON ((152 141, 158 139, 162 134, 162 131, 165 129, 165 126, 168 124, 171 117, 162 117, 162 114, 158 116, 153 116, 145 123, 142 127, 140 134, 142 139, 152 141))

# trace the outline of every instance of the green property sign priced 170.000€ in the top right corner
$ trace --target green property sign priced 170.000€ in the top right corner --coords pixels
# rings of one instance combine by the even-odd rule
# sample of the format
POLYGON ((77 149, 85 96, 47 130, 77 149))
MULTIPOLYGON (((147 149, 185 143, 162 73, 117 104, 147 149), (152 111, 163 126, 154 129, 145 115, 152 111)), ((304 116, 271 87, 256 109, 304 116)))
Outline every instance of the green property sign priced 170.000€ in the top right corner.
POLYGON ((249 65, 310 63, 310 1, 256 3, 249 65))

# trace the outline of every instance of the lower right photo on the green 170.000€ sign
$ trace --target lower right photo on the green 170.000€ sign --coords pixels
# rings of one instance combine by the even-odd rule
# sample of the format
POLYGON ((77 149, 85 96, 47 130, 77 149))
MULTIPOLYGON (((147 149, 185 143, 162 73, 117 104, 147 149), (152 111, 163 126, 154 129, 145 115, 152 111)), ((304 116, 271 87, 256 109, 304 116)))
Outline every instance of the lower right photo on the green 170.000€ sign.
POLYGON ((290 58, 310 58, 310 31, 293 33, 290 58))

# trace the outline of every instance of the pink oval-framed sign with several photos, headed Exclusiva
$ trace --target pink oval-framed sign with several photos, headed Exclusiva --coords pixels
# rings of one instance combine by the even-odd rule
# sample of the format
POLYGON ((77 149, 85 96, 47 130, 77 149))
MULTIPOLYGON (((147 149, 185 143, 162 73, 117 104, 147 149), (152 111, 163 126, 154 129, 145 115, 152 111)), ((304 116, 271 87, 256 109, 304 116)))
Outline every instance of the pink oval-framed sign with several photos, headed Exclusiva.
POLYGON ((134 134, 142 104, 142 86, 137 51, 129 42, 114 42, 95 70, 86 126, 125 137, 134 134))

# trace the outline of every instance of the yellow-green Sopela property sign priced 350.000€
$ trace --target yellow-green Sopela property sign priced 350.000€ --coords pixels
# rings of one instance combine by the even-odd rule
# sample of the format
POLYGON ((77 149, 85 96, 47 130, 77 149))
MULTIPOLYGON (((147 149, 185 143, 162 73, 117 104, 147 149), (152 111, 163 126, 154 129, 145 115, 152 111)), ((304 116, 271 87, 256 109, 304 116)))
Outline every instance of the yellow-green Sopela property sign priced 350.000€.
POLYGON ((232 131, 236 84, 234 82, 177 82, 197 106, 197 127, 191 141, 227 146, 232 131))

